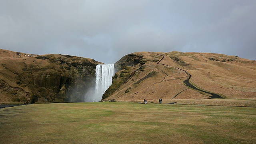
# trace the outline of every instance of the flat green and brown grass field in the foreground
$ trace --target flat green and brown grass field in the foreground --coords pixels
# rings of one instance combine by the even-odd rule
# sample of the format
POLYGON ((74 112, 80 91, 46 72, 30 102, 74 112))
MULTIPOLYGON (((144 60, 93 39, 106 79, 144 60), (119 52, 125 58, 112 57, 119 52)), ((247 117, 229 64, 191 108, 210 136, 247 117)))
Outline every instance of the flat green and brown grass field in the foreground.
POLYGON ((256 108, 94 102, 0 109, 1 144, 255 144, 256 108))

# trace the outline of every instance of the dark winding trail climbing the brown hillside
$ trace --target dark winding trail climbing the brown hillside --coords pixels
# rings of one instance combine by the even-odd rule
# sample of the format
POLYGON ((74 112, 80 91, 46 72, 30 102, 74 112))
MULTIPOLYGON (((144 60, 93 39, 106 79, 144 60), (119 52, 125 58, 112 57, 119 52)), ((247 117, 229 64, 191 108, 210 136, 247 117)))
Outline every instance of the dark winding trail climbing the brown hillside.
MULTIPOLYGON (((157 54, 158 55, 158 54, 157 54)), ((160 56, 163 56, 163 55, 160 55, 160 56)), ((164 59, 164 56, 161 60, 164 59)), ((161 60, 159 62, 161 62, 161 60)), ((159 62, 157 62, 157 64, 159 64, 159 62)), ((164 66, 168 66, 166 64, 161 64, 161 65, 164 65, 164 66)), ((176 68, 176 67, 173 67, 173 66, 170 66, 172 68, 176 68)), ((181 68, 176 68, 178 70, 182 70, 181 68)), ((187 86, 188 88, 192 89, 192 90, 196 90, 196 91, 199 91, 199 92, 204 92, 206 94, 210 94, 211 96, 209 96, 209 98, 223 98, 222 96, 220 96, 219 94, 215 94, 215 93, 212 93, 212 92, 207 92, 206 90, 202 90, 196 86, 194 86, 189 80, 190 78, 192 77, 191 74, 189 74, 186 70, 182 70, 183 72, 186 72, 186 74, 188 74, 188 78, 186 80, 183 81, 183 83, 185 84, 185 86, 187 86)), ((187 90, 187 89, 186 89, 187 90)), ((183 92, 185 90, 182 90, 181 92, 183 92)), ((178 94, 180 94, 181 92, 179 92, 178 94)), ((178 96, 178 94, 176 94, 172 99, 174 99, 176 96, 178 96)))

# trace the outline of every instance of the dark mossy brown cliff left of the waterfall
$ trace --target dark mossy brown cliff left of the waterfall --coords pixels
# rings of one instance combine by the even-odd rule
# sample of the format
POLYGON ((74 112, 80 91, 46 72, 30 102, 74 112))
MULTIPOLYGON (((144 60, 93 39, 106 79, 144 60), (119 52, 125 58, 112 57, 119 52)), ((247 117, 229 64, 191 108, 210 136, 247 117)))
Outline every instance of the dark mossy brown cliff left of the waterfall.
POLYGON ((89 58, 60 54, 31 55, 0 49, 0 102, 83 102, 95 84, 89 58))

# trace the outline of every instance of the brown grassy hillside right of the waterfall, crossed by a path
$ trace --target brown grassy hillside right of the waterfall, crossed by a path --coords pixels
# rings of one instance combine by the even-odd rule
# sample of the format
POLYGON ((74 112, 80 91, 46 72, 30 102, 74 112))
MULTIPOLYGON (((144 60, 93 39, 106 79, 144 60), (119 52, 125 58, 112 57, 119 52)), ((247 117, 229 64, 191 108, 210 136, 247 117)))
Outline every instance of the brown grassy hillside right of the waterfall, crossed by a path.
POLYGON ((102 100, 256 99, 256 61, 224 54, 136 52, 116 62, 102 100), (184 80, 189 77, 189 88, 184 80), (209 94, 212 93, 212 94, 209 94))

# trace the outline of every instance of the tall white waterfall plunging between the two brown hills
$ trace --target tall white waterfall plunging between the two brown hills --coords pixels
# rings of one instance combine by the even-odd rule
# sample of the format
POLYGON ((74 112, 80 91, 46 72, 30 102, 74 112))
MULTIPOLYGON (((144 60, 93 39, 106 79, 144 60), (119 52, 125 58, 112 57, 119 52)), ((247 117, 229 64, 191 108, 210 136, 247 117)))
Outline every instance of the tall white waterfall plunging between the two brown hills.
POLYGON ((96 66, 96 85, 87 92, 85 102, 98 102, 102 95, 112 84, 112 76, 114 76, 114 64, 98 64, 96 66))

